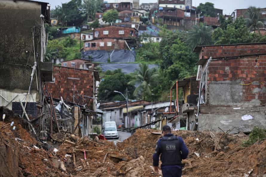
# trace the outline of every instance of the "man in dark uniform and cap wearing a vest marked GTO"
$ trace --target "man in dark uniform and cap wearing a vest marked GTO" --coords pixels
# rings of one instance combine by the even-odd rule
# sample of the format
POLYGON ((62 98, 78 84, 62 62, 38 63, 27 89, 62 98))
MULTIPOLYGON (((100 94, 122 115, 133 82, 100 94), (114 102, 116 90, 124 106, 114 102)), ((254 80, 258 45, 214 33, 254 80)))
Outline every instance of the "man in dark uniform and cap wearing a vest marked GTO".
POLYGON ((171 133, 168 125, 163 126, 163 137, 158 140, 153 154, 153 166, 156 172, 158 172, 160 155, 163 177, 181 177, 183 166, 181 161, 186 159, 188 149, 181 137, 171 133))

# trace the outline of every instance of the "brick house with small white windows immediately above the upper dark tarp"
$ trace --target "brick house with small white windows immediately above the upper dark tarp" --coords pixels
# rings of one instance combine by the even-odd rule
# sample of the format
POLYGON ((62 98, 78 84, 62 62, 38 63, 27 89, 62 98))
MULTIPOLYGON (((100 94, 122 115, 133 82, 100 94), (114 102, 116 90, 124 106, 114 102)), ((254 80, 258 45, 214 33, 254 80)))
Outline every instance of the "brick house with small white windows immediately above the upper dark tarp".
POLYGON ((114 50, 126 49, 125 40, 115 38, 94 39, 85 41, 84 50, 114 50))

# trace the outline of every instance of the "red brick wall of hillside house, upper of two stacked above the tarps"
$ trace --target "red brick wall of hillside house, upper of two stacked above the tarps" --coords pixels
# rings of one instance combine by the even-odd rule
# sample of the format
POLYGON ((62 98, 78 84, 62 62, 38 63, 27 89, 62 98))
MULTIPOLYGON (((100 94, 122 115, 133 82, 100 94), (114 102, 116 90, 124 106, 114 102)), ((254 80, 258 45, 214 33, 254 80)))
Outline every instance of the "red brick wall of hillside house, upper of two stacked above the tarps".
POLYGON ((137 31, 134 28, 126 28, 126 27, 103 27, 103 28, 97 28, 93 32, 94 38, 133 38, 137 36, 137 31), (124 30, 124 34, 120 35, 119 30, 124 30), (95 32, 98 31, 99 35, 98 37, 95 35, 95 32), (104 35, 103 31, 108 31, 108 35, 104 35), (130 31, 133 32, 133 36, 130 33, 130 31))

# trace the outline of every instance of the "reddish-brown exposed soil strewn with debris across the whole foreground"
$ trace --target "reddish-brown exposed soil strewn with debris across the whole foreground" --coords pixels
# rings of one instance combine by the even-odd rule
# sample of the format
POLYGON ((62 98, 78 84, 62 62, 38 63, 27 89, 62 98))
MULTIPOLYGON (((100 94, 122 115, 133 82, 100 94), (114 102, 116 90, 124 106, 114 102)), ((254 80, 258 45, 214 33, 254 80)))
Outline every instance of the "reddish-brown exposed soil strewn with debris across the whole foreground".
MULTIPOLYGON (((10 130, 7 122, 0 122, 0 147, 6 149, 0 153, 3 155, 12 152, 12 158, 3 161, 4 164, 0 167, 0 170, 10 170, 4 176, 162 176, 151 167, 152 154, 161 136, 153 132, 160 131, 137 129, 124 142, 117 143, 117 146, 106 140, 72 137, 61 132, 52 135, 53 141, 48 143, 51 148, 47 151, 19 122, 15 121, 15 131, 10 130), (58 152, 53 152, 54 147, 58 152), (18 170, 14 168, 16 166, 18 170)), ((207 131, 173 133, 181 136, 189 149, 188 158, 183 160, 184 177, 238 177, 250 171, 249 176, 261 177, 266 174, 266 141, 243 147, 241 143, 248 138, 244 134, 229 135, 207 131)), ((3 174, 0 173, 1 175, 3 174)))

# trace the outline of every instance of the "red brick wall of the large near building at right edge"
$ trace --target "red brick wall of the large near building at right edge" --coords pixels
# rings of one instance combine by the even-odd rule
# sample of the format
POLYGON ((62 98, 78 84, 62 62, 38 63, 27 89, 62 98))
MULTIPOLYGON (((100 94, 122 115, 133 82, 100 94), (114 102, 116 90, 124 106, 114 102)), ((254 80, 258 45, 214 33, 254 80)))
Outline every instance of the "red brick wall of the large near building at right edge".
MULTIPOLYGON (((209 65, 208 84, 220 81, 235 81, 244 85, 241 102, 259 100, 266 103, 266 55, 242 59, 216 60, 209 65), (256 91, 255 91, 255 90, 256 91)), ((230 92, 231 90, 221 90, 230 92)), ((212 90, 209 90, 212 92, 212 90)))

